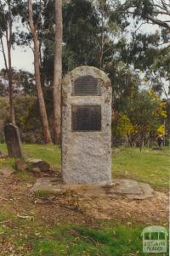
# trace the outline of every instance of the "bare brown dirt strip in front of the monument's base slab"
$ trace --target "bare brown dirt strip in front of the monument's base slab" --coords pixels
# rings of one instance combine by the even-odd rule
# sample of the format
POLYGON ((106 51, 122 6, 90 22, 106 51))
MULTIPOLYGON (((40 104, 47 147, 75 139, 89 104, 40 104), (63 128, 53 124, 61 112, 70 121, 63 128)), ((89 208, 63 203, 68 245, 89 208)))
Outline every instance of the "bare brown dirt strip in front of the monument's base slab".
POLYGON ((78 196, 77 193, 37 195, 31 193, 34 178, 26 179, 15 174, 0 179, 1 211, 14 216, 31 216, 48 224, 90 224, 109 219, 127 224, 144 223, 166 225, 168 222, 168 195, 155 191, 144 200, 132 200, 126 196, 100 197, 78 196))

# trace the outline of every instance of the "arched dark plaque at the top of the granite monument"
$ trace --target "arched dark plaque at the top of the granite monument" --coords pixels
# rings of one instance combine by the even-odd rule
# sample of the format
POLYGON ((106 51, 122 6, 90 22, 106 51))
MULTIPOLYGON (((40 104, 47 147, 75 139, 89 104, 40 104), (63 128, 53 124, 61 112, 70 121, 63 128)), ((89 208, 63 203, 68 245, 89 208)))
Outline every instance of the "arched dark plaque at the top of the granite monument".
POLYGON ((100 85, 98 79, 92 76, 78 77, 73 84, 73 95, 86 96, 86 95, 100 95, 100 85))

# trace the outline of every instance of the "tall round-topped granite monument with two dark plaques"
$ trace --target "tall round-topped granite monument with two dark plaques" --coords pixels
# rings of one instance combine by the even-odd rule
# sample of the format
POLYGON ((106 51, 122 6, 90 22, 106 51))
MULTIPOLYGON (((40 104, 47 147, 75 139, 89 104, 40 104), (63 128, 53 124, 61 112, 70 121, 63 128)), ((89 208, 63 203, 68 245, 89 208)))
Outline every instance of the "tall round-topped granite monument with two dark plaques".
POLYGON ((97 68, 71 71, 62 87, 62 177, 111 184, 111 81, 97 68))

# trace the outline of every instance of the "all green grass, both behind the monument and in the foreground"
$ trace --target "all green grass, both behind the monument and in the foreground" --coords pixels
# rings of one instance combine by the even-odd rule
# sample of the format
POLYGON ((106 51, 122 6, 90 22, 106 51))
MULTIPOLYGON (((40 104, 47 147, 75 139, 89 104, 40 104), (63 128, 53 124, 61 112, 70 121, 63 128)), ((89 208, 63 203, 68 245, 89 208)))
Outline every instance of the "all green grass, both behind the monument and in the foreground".
MULTIPOLYGON (((6 145, 0 145, 0 150, 6 151, 6 145)), ((60 168, 59 147, 23 145, 23 151, 26 156, 41 158, 54 168, 60 168)), ((14 159, 0 160, 0 168, 8 165, 14 166, 14 159)), ((163 151, 144 149, 142 152, 139 149, 120 148, 112 153, 113 178, 137 179, 150 183, 160 191, 168 188, 169 166, 168 148, 163 151)), ((23 185, 29 178, 20 172, 17 177, 23 180, 23 185)), ((38 191, 37 196, 43 198, 49 194, 47 191, 38 191)), ((37 213, 40 214, 38 210, 37 213)), ((90 227, 65 223, 52 225, 48 219, 44 221, 40 217, 36 215, 34 220, 20 219, 11 212, 8 202, 3 204, 0 208, 0 256, 150 256, 142 252, 141 237, 142 230, 149 224, 122 225, 102 220, 90 227)), ((167 256, 168 253, 154 255, 167 256)))

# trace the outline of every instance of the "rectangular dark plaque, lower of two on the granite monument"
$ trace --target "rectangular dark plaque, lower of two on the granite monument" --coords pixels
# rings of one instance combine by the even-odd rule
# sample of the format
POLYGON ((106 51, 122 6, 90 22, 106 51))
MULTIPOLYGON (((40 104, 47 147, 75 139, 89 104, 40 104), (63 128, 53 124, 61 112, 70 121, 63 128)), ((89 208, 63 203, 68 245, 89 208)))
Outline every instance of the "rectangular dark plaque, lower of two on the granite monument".
POLYGON ((72 131, 100 131, 101 106, 100 105, 73 105, 72 131))

